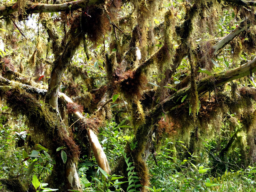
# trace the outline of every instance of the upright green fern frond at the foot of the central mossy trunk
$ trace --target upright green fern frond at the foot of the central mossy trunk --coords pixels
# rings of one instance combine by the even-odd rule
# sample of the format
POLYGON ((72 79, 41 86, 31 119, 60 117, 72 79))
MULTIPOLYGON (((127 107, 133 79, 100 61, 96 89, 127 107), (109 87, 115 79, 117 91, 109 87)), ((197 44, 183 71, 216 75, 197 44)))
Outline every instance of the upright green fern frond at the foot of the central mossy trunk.
POLYGON ((133 162, 129 162, 130 157, 126 157, 126 154, 124 154, 124 159, 125 163, 127 164, 127 169, 128 171, 128 182, 129 185, 127 187, 127 192, 137 192, 136 188, 142 187, 141 184, 136 184, 140 182, 140 178, 137 175, 137 172, 134 172, 134 166, 133 162))

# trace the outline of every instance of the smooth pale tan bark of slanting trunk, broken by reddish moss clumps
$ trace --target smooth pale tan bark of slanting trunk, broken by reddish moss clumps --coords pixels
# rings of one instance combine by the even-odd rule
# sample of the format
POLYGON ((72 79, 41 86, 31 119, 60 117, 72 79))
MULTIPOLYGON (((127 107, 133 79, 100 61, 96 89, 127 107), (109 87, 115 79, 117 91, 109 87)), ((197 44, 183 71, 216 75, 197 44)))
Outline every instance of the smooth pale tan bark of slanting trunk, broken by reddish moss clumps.
MULTIPOLYGON (((64 93, 59 93, 59 96, 60 96, 60 98, 64 99, 66 102, 73 103, 73 101, 64 93)), ((79 111, 76 111, 74 113, 74 115, 76 116, 77 119, 81 119, 81 120, 83 119, 83 115, 79 111)), ((80 121, 80 122, 83 123, 83 121, 80 121)), ((86 132, 86 138, 90 143, 94 157, 95 157, 99 167, 109 174, 110 168, 109 168, 107 156, 105 155, 105 153, 100 145, 98 137, 92 131, 92 129, 88 129, 88 131, 86 132)))

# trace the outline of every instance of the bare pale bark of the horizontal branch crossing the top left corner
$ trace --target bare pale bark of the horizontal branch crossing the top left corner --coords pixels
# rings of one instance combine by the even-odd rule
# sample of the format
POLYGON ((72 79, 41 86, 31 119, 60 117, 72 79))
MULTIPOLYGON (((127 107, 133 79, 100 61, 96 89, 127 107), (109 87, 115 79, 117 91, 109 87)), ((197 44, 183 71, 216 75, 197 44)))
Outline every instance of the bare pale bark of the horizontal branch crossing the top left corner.
MULTIPOLYGON (((72 10, 77 10, 79 8, 87 7, 93 4, 104 3, 103 0, 78 0, 71 1, 63 4, 40 4, 40 3, 31 3, 28 4, 26 8, 26 13, 40 13, 40 12, 62 12, 69 10, 69 7, 72 7, 72 10)), ((18 4, 14 3, 12 5, 0 6, 0 17, 8 16, 13 12, 18 11, 18 4)))

